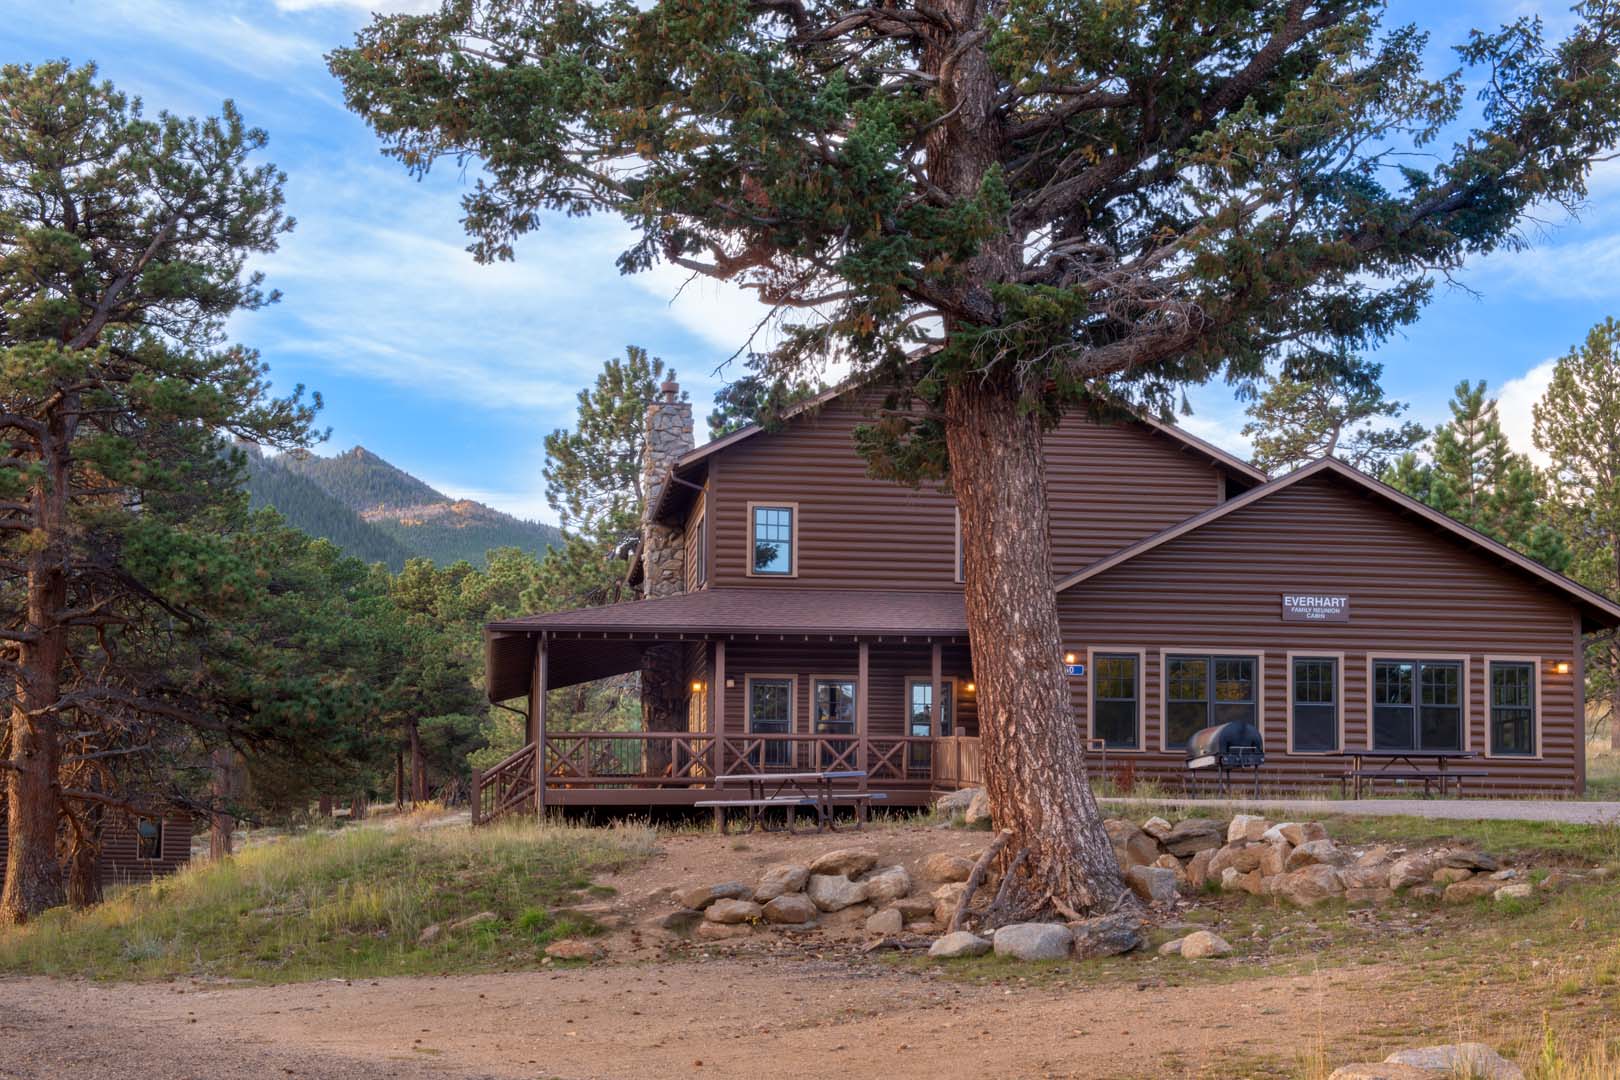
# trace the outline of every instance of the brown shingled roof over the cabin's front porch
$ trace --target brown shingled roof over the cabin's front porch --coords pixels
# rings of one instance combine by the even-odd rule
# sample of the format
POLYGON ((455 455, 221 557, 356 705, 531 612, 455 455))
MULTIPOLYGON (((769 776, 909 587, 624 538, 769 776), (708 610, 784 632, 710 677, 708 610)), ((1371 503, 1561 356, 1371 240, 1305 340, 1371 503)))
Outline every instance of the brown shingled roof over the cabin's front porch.
POLYGON ((484 627, 491 701, 528 693, 533 638, 541 633, 554 641, 549 683, 569 687, 635 670, 642 649, 658 641, 745 635, 959 638, 967 635, 967 609, 961 591, 761 585, 504 619, 484 627))

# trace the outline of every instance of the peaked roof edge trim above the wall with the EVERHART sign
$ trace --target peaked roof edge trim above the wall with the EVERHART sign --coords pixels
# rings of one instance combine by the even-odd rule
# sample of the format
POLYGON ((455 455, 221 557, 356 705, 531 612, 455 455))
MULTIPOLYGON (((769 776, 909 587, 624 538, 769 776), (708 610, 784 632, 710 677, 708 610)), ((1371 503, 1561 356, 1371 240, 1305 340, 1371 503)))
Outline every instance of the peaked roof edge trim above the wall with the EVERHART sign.
POLYGON ((1434 507, 1418 502, 1411 495, 1406 495, 1390 487, 1388 484, 1383 484, 1382 481, 1367 476, 1361 470, 1345 465, 1338 458, 1320 458, 1301 470, 1290 473, 1288 476, 1281 476, 1267 484, 1254 487, 1234 499, 1223 502, 1218 507, 1194 515, 1186 521, 1181 521, 1179 525, 1173 525, 1168 529, 1149 536, 1147 539, 1137 541, 1136 544, 1131 544, 1129 547, 1124 547, 1115 552, 1113 555, 1108 555, 1106 559, 1100 559, 1090 563, 1084 570, 1071 573, 1069 576, 1058 581, 1056 589, 1061 593, 1064 589, 1074 588, 1082 581, 1089 581, 1090 578, 1095 578, 1102 573, 1108 573, 1110 570, 1113 570, 1121 563, 1131 562, 1139 555, 1155 551, 1157 547, 1162 547, 1179 536, 1186 536, 1187 533, 1200 529, 1205 525, 1210 525, 1212 521, 1220 521, 1230 513, 1236 513, 1244 507, 1249 507, 1264 499, 1270 499, 1272 495, 1281 491, 1288 491, 1294 484, 1301 484, 1312 478, 1322 478, 1322 476, 1346 481, 1351 486, 1362 491, 1364 494, 1380 499, 1400 512, 1421 518, 1422 521, 1435 526, 1439 531, 1452 536, 1458 542, 1469 546, 1476 551, 1481 551, 1494 559, 1498 559, 1515 572, 1523 573, 1524 576, 1529 576, 1537 583, 1549 586, 1558 593, 1563 593, 1571 604, 1578 606, 1583 610, 1584 615, 1592 617, 1591 620, 1594 623, 1602 627, 1620 625, 1620 604, 1615 604, 1609 597, 1594 593, 1586 586, 1578 585, 1576 581, 1571 581, 1562 573, 1549 570, 1534 559, 1529 559, 1513 551, 1507 544, 1490 539, 1484 533, 1471 529, 1461 521, 1448 518, 1434 507))

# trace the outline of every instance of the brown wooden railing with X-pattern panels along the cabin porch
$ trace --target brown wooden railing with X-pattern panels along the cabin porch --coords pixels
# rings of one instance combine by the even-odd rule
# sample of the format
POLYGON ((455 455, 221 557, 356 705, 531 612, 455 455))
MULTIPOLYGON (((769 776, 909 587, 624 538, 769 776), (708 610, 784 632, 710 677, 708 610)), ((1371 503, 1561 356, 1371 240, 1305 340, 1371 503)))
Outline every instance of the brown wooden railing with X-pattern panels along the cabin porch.
MULTIPOLYGON (((546 732, 546 792, 706 789, 719 774, 862 771, 867 787, 956 789, 980 782, 978 740, 925 735, 546 732), (862 750, 865 748, 865 753, 862 750)), ((549 798, 549 795, 548 795, 549 798)), ((473 774, 473 824, 533 813, 535 746, 473 774)))

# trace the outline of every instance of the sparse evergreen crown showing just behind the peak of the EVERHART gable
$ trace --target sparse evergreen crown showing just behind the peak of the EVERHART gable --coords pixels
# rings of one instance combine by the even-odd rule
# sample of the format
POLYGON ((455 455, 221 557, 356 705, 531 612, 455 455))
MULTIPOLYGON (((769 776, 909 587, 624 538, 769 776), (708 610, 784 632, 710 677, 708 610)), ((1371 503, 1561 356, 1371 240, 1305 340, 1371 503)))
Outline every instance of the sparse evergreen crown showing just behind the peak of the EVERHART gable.
POLYGON ((1362 473, 1380 474, 1390 458, 1408 453, 1429 432, 1422 424, 1383 424, 1406 411, 1383 395, 1382 364, 1346 358, 1343 368, 1299 379, 1285 366, 1265 379, 1249 405, 1243 434, 1254 442, 1254 466, 1291 473, 1324 457, 1336 457, 1362 473))

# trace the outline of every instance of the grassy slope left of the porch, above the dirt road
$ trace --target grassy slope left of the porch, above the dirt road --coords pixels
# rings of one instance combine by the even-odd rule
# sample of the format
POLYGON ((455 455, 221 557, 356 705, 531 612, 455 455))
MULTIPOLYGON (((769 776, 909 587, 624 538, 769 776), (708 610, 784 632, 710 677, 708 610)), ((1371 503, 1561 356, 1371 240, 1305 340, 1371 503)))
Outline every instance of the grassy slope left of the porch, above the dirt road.
POLYGON ((287 983, 531 965, 552 941, 599 933, 567 908, 654 847, 643 826, 535 823, 290 837, 3 931, 0 972, 287 983), (449 929, 481 912, 496 918, 449 929))

